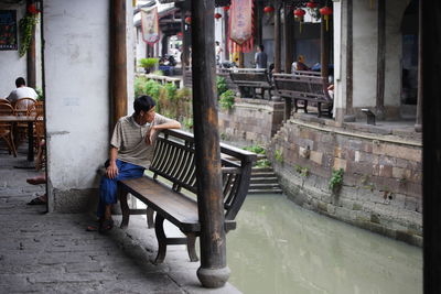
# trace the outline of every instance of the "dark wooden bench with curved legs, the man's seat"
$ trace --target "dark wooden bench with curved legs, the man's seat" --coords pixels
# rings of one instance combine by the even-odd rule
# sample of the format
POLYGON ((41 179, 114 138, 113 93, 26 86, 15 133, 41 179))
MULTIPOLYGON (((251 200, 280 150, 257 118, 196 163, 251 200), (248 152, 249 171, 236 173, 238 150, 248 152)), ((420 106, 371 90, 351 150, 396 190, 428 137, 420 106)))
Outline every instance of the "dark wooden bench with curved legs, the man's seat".
MULTIPOLYGON (((248 192, 251 165, 256 154, 220 144, 225 231, 236 228, 235 217, 248 192)), ((163 262, 168 244, 186 244, 191 261, 197 261, 195 240, 201 232, 195 195, 195 149, 193 134, 165 130, 155 141, 150 168, 153 176, 120 181, 119 198, 122 210, 121 228, 129 224, 130 214, 147 214, 148 227, 158 239, 155 263, 163 262), (130 209, 127 193, 147 205, 147 209, 130 209), (193 194, 193 197, 191 196, 193 194), (153 222, 153 211, 157 213, 153 222), (170 238, 163 229, 164 220, 175 225, 185 237, 170 238)))

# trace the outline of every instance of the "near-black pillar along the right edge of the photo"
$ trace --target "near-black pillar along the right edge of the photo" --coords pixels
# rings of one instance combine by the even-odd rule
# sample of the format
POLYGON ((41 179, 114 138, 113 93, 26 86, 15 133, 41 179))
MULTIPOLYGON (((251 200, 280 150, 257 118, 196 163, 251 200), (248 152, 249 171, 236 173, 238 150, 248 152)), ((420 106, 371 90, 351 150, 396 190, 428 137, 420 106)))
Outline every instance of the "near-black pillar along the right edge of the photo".
POLYGON ((441 1, 420 0, 422 10, 421 77, 426 99, 422 104, 423 192, 423 293, 441 293, 441 1))

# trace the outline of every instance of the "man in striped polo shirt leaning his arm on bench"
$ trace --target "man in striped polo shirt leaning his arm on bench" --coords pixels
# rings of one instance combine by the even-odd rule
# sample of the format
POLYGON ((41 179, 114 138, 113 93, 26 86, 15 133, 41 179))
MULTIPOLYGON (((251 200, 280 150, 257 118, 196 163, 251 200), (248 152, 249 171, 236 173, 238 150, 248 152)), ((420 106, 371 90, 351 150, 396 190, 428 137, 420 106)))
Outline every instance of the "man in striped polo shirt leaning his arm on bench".
MULTIPOLYGON (((181 123, 154 112, 155 102, 150 96, 135 99, 135 113, 120 118, 110 141, 110 156, 106 175, 99 185, 99 232, 114 227, 111 205, 117 203, 117 182, 141 177, 153 155, 154 139, 160 130, 180 129, 181 123)), ((87 230, 96 230, 87 227, 87 230)))

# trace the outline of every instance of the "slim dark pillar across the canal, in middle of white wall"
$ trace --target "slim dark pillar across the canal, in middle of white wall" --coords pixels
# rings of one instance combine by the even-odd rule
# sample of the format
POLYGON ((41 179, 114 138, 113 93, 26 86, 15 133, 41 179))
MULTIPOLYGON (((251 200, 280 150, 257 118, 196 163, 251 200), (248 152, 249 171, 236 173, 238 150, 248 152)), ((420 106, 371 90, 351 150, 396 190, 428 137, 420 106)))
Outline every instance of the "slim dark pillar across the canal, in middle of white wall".
POLYGON ((385 118, 385 70, 386 70, 386 0, 378 0, 377 43, 377 98, 376 116, 385 118))

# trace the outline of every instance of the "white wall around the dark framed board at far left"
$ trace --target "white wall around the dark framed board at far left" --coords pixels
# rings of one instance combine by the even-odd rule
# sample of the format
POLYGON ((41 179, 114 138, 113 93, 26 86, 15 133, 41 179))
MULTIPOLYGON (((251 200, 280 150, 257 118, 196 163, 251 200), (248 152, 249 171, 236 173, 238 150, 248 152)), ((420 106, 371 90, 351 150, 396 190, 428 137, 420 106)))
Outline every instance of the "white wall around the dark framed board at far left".
MULTIPOLYGON (((0 3, 0 9, 17 10, 17 30, 25 7, 0 3)), ((17 37, 20 40, 19 32, 17 37)), ((20 42, 19 42, 20 47, 20 42)), ((26 55, 20 57, 19 51, 0 51, 0 98, 6 98, 15 88, 15 78, 26 78, 26 55)))

